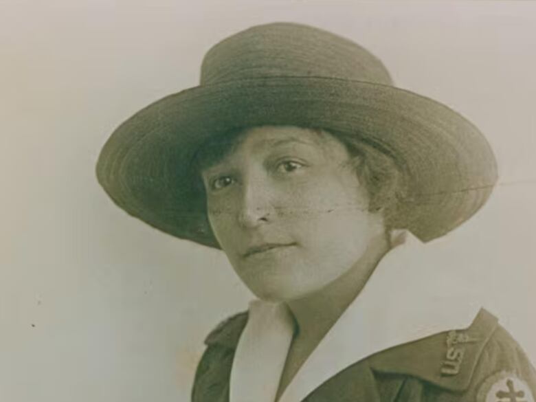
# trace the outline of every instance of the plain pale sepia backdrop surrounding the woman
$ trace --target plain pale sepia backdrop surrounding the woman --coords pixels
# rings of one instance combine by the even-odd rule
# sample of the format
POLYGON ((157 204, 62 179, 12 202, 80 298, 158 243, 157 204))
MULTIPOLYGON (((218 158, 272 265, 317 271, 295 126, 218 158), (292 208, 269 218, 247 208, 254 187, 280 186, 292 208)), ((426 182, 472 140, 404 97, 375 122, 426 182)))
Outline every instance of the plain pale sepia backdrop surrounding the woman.
POLYGON ((487 135, 500 185, 433 263, 536 362, 535 2, 2 0, 0 401, 189 400, 203 337, 251 295, 223 254, 116 208, 94 164, 212 44, 271 21, 353 38, 487 135))

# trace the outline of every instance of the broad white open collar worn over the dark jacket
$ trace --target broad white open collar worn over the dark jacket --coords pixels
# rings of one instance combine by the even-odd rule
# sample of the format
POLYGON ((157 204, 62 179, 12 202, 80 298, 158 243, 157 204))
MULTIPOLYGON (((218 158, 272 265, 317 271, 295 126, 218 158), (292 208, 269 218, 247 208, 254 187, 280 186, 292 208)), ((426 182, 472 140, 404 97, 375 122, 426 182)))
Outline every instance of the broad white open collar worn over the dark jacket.
MULTIPOLYGON (((469 326, 480 306, 459 276, 434 269, 442 247, 407 234, 304 362, 278 402, 300 402, 337 372, 392 346, 469 326)), ((230 402, 274 402, 293 326, 282 304, 254 300, 236 348, 230 402), (252 399, 252 397, 254 399, 252 399)))

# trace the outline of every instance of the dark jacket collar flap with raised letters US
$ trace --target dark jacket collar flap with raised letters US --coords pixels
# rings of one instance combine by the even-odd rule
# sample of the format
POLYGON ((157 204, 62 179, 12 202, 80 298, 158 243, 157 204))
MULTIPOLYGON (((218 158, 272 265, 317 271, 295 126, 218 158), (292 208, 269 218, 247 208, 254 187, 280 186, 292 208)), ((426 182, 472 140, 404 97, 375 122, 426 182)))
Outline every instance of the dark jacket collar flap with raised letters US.
POLYGON ((482 354, 489 349, 489 342, 498 328, 497 318, 481 309, 469 328, 438 333, 383 350, 370 357, 370 367, 377 372, 408 375, 461 392, 471 386, 482 354))

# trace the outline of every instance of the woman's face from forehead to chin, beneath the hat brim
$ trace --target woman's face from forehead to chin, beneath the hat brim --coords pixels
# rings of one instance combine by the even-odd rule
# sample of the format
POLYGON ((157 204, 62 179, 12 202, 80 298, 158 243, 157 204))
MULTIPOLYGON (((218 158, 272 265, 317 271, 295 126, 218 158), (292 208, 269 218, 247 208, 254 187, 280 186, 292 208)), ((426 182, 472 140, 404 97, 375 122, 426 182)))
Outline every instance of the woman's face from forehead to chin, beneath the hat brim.
POLYGON ((295 300, 349 271, 383 230, 346 147, 294 126, 249 129, 203 170, 208 218, 258 298, 295 300))

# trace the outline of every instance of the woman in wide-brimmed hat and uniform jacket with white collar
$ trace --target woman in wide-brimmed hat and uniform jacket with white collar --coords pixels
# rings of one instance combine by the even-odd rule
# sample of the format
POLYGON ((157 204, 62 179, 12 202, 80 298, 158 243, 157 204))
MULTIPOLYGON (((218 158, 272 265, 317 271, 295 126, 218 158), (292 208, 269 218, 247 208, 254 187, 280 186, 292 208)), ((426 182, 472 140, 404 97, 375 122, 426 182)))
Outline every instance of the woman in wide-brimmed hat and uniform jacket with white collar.
POLYGON ((194 402, 533 401, 515 341, 423 264, 421 241, 487 201, 493 153, 355 43, 294 23, 225 39, 97 173, 133 216, 221 248, 258 298, 208 335, 194 402))

